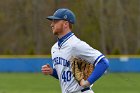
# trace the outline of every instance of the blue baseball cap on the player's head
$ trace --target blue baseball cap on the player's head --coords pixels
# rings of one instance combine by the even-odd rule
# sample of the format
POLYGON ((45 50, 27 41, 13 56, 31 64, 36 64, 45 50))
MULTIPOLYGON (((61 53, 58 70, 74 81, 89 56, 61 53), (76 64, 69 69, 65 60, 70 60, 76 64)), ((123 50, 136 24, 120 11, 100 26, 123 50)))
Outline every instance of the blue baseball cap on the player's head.
POLYGON ((74 13, 66 8, 60 8, 55 11, 53 16, 48 16, 48 20, 66 20, 70 22, 71 24, 74 24, 76 21, 74 13))

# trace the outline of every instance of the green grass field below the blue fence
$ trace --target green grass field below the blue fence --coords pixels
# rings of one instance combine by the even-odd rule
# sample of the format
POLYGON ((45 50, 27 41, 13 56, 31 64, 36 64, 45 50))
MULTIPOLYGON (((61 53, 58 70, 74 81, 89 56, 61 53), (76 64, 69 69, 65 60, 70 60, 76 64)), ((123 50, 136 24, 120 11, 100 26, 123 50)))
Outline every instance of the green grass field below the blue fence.
MULTIPOLYGON (((95 93, 140 93, 140 73, 109 73, 93 85, 95 93)), ((61 93, 58 80, 41 73, 0 73, 0 93, 61 93)))

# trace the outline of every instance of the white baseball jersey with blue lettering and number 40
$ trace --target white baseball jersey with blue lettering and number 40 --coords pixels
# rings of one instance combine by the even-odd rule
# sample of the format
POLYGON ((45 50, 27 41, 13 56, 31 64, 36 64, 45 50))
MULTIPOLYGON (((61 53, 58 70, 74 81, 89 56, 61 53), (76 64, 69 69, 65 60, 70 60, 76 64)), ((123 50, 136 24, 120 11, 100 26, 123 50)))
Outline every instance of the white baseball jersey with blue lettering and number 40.
POLYGON ((80 57, 92 64, 97 64, 104 57, 98 50, 78 39, 73 33, 69 34, 58 46, 55 43, 51 49, 53 68, 56 69, 62 93, 71 93, 83 89, 74 79, 70 58, 80 57))

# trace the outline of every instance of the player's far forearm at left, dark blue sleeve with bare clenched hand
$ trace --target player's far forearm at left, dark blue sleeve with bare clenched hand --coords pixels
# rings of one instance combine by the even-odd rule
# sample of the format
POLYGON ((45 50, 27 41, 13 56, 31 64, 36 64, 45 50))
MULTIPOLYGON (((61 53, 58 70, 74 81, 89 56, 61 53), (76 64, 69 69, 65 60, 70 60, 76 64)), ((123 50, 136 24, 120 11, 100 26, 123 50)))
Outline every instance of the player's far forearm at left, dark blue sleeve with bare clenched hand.
POLYGON ((56 79, 58 79, 56 69, 51 68, 49 64, 42 66, 41 70, 44 75, 51 75, 51 76, 55 77, 56 79))

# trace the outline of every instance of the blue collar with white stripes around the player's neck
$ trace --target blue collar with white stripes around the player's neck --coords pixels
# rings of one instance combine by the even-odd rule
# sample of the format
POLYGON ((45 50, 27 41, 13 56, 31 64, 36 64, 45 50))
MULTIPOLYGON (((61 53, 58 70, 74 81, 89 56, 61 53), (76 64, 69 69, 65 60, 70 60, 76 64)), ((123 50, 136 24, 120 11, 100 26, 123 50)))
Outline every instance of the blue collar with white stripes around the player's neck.
POLYGON ((58 46, 61 47, 73 35, 74 35, 74 33, 69 32, 62 38, 60 38, 60 39, 58 38, 58 46))

